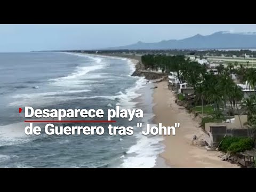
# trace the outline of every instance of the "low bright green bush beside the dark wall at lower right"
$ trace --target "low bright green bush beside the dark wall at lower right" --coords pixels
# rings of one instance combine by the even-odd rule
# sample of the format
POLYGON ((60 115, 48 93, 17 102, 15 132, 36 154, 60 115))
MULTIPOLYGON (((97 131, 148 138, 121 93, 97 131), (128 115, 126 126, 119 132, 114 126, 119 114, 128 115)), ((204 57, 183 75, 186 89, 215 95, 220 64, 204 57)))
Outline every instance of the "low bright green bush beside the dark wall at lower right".
POLYGON ((226 137, 222 140, 219 149, 225 153, 235 154, 250 150, 254 147, 252 138, 226 137))

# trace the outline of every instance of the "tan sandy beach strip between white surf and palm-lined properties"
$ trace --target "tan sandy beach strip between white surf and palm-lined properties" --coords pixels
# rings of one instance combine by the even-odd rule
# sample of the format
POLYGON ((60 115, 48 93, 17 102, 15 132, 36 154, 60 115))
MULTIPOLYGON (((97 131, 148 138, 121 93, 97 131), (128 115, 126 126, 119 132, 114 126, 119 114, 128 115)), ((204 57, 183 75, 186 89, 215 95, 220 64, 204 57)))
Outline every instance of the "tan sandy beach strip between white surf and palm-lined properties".
MULTIPOLYGON (((193 143, 193 135, 201 140, 205 133, 200 129, 199 123, 193 116, 175 103, 175 97, 167 87, 167 82, 156 84, 153 97, 155 106, 153 108, 154 123, 162 123, 163 126, 174 126, 180 123, 175 135, 164 136, 165 150, 160 156, 170 167, 177 168, 203 168, 203 167, 238 167, 235 164, 221 161, 218 157, 220 152, 207 151, 204 147, 198 147, 193 143), (172 106, 170 104, 172 103, 172 106)), ((157 162, 158 164, 162 162, 157 162)))

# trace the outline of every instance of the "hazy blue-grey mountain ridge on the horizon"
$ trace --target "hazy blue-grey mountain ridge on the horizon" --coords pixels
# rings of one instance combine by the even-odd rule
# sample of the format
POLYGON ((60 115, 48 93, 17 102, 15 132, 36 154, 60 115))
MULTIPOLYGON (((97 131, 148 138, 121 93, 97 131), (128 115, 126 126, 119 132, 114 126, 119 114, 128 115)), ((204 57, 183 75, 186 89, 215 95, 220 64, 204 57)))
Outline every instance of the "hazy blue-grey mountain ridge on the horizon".
POLYGON ((219 31, 212 35, 197 34, 181 40, 158 43, 138 42, 132 45, 110 47, 110 50, 161 50, 161 49, 255 49, 256 33, 229 33, 219 31))

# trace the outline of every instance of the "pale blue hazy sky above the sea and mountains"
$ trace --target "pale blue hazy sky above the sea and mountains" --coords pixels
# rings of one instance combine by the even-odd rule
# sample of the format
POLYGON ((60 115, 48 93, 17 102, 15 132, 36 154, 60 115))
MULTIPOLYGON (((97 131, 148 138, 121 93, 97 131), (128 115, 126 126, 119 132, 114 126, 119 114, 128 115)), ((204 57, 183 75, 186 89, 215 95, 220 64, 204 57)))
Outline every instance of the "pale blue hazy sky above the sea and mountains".
POLYGON ((255 24, 0 24, 0 52, 89 50, 183 39, 217 31, 256 32, 255 24))

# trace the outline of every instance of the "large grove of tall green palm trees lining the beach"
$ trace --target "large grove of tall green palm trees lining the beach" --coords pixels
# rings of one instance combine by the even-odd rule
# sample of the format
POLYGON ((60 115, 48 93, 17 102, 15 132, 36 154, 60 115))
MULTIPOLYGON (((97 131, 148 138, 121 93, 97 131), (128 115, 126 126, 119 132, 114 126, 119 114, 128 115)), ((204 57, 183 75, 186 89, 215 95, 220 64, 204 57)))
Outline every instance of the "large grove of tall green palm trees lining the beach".
MULTIPOLYGON (((216 75, 211 71, 207 72, 206 65, 190 61, 184 55, 148 54, 143 55, 141 61, 146 68, 161 68, 166 73, 175 72, 181 83, 187 83, 194 89, 196 97, 193 102, 186 103, 186 106, 190 110, 202 112, 201 107, 198 106, 203 103, 203 113, 208 117, 202 119, 202 127, 205 127, 205 123, 222 122, 223 119, 229 119, 234 114, 238 114, 240 126, 243 127, 240 119, 240 114, 243 113, 248 115, 247 126, 252 130, 248 136, 256 135, 256 94, 251 94, 245 99, 241 87, 231 78, 231 74, 237 74, 238 81, 247 82, 250 85, 249 90, 253 90, 256 86, 256 68, 251 68, 250 62, 246 65, 238 62, 234 65, 228 63, 226 67, 219 65, 216 75)), ((185 99, 183 95, 178 97, 179 100, 185 99)), ((256 137, 254 138, 256 143, 256 137)), ((232 151, 235 150, 240 149, 232 148, 232 151)))

